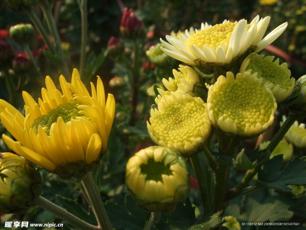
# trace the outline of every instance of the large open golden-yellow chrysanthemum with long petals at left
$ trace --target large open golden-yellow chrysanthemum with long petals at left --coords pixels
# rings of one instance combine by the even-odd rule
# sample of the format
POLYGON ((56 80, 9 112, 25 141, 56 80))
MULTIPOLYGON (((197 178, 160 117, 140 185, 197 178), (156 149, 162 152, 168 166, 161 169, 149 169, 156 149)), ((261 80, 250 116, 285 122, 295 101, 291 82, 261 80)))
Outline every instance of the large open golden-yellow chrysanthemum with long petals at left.
POLYGON ((115 100, 105 102, 100 77, 91 96, 74 69, 71 83, 60 76, 62 93, 49 76, 38 103, 23 92, 25 117, 0 100, 0 118, 17 141, 3 135, 13 151, 46 170, 68 179, 91 171, 104 155, 114 119, 115 100), (100 153, 101 151, 101 153, 100 153))

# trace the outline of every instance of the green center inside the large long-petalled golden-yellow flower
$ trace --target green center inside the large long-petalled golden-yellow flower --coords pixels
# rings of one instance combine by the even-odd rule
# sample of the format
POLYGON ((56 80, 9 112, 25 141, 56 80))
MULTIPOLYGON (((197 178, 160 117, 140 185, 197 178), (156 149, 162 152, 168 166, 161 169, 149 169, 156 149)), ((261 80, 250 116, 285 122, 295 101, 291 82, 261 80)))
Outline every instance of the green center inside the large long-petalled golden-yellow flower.
POLYGON ((59 105, 56 109, 51 109, 49 112, 44 114, 42 117, 38 117, 33 121, 32 128, 38 128, 41 125, 43 128, 47 127, 45 130, 47 135, 50 136, 51 125, 57 121, 58 117, 62 117, 65 122, 70 121, 71 119, 76 119, 76 117, 89 117, 84 114, 79 114, 78 105, 81 105, 78 101, 69 102, 66 105, 59 105))

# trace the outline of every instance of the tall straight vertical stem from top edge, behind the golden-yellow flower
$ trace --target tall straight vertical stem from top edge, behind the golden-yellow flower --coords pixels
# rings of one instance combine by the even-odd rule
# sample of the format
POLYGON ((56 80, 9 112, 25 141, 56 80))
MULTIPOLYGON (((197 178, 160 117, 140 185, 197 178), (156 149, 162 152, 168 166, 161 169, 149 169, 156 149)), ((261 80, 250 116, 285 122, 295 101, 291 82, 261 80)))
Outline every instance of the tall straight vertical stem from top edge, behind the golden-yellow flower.
POLYGON ((82 25, 82 37, 81 37, 81 56, 80 56, 80 73, 81 79, 84 79, 85 65, 86 65, 86 47, 87 47, 87 0, 81 0, 79 5, 81 12, 81 25, 82 25))

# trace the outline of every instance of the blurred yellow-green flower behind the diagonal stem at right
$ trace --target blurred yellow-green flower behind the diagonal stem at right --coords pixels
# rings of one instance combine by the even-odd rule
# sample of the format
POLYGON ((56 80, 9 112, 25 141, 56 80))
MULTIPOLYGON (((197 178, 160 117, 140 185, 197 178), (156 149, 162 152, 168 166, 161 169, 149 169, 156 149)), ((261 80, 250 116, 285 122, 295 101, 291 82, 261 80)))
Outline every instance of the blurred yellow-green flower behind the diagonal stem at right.
MULTIPOLYGON (((268 147, 270 141, 265 141, 261 144, 259 144, 259 149, 263 150, 265 148, 268 147)), ((279 155, 279 154, 283 154, 283 160, 284 161, 289 161, 292 159, 292 155, 293 155, 293 146, 291 143, 288 143, 285 139, 281 140, 278 145, 275 147, 275 149, 273 150, 273 152, 271 153, 270 158, 279 155)))

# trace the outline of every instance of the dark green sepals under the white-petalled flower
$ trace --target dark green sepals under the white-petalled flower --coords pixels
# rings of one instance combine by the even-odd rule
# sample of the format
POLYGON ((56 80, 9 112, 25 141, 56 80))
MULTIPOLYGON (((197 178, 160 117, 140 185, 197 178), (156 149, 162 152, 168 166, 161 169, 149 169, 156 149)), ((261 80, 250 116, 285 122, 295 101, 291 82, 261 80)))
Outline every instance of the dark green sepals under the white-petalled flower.
POLYGON ((203 74, 213 74, 217 79, 220 75, 226 76, 226 72, 231 71, 236 75, 240 71, 243 60, 252 52, 256 50, 257 46, 250 46, 243 54, 235 57, 230 63, 216 63, 216 62, 204 62, 201 59, 193 60, 196 63, 196 67, 203 74))

